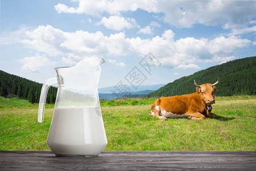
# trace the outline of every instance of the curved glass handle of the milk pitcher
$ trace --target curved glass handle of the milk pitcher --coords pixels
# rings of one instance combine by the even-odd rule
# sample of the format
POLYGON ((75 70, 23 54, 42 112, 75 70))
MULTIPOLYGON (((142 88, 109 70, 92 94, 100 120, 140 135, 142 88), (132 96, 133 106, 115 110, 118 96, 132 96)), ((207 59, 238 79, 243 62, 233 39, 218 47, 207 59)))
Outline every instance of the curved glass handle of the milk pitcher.
POLYGON ((45 112, 45 101, 46 96, 48 93, 48 89, 50 86, 53 86, 54 84, 58 84, 57 78, 50 78, 46 80, 46 82, 42 86, 40 100, 39 100, 39 106, 38 106, 38 122, 42 123, 44 121, 44 112, 45 112))

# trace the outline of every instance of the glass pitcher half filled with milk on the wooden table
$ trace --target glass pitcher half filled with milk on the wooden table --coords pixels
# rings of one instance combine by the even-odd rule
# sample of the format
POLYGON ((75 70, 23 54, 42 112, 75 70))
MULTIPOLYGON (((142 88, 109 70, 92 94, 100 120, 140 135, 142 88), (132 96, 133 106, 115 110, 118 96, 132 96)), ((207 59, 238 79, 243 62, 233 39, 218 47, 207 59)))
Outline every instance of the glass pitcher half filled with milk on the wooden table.
POLYGON ((57 97, 47 145, 56 156, 98 156, 107 145, 98 94, 104 59, 89 57, 72 67, 54 68, 56 78, 42 86, 38 121, 44 120, 45 100, 50 86, 57 85, 57 97))

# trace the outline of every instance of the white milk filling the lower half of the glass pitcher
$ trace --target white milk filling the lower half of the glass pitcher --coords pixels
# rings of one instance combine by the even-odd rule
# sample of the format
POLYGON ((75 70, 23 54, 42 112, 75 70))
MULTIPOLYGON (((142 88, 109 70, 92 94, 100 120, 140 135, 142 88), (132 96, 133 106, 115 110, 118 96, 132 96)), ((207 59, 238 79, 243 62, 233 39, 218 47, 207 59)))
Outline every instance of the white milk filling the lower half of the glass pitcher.
POLYGON ((55 108, 47 144, 56 156, 97 156, 107 145, 96 108, 55 108))

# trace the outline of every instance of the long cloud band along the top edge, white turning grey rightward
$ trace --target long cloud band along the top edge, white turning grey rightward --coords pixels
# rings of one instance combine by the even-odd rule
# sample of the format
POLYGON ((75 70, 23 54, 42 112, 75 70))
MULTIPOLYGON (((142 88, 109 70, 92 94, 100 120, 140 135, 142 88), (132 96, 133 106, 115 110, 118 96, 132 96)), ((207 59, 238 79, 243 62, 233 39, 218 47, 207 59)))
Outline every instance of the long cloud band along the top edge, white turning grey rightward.
POLYGON ((97 17, 136 11, 164 13, 164 21, 175 27, 192 27, 196 23, 206 26, 223 25, 224 28, 244 27, 253 22, 256 1, 94 1, 74 0, 77 7, 58 3, 57 13, 85 13, 97 17))

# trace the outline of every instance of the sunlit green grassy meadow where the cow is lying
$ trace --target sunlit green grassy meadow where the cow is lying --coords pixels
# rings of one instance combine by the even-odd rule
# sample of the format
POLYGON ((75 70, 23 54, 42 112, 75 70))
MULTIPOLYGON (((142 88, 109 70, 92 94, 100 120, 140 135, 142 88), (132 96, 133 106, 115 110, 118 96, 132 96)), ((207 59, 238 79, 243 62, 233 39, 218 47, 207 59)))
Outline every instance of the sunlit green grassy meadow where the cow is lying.
MULTIPOLYGON (((101 100, 104 150, 256 150, 256 96, 216 97, 217 118, 198 121, 148 116, 155 100, 101 100)), ((0 96, 0 150, 49 150, 53 108, 38 123, 38 104, 0 96)))

